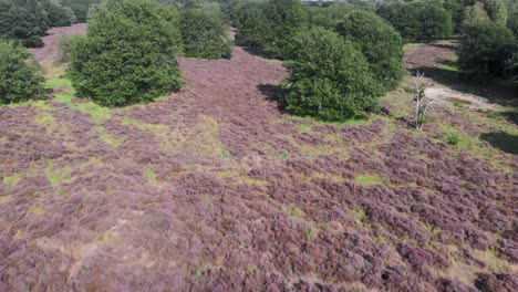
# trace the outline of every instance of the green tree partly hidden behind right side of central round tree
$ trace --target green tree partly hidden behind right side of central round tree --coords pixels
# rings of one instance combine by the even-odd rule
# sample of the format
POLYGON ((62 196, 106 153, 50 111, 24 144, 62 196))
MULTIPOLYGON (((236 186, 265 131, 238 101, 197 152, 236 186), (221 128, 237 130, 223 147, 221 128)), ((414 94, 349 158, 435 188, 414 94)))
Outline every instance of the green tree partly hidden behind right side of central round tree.
POLYGON ((403 41, 391 24, 373 12, 355 10, 342 18, 336 31, 363 53, 385 90, 397 87, 405 72, 403 41))

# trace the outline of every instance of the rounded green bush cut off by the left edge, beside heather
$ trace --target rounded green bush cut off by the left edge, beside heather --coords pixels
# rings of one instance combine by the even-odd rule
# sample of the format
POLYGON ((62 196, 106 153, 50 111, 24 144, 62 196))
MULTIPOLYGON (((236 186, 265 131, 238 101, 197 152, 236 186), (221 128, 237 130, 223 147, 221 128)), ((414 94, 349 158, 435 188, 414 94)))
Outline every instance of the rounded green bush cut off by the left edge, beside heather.
POLYGON ((41 66, 25 48, 0 41, 0 103, 41 96, 43 81, 41 66))

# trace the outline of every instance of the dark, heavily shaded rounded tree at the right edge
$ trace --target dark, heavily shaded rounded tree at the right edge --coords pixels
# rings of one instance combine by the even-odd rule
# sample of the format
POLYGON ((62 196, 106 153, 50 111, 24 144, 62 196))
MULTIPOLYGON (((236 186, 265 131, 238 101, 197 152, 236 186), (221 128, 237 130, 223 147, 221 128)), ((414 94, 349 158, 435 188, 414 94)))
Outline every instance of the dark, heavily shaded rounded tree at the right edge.
POLYGON ((493 22, 467 27, 457 49, 462 74, 485 81, 508 73, 515 40, 509 29, 493 22))

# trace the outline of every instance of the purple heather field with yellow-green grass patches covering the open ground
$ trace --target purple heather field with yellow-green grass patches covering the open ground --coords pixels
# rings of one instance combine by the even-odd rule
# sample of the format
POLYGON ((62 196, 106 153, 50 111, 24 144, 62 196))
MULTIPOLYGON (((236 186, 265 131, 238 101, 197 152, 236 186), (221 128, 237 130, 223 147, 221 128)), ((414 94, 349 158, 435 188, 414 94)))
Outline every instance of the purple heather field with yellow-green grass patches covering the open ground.
POLYGON ((518 159, 431 138, 479 125, 321 124, 270 101, 280 63, 179 64, 147 105, 0 107, 0 291, 517 290, 518 159))

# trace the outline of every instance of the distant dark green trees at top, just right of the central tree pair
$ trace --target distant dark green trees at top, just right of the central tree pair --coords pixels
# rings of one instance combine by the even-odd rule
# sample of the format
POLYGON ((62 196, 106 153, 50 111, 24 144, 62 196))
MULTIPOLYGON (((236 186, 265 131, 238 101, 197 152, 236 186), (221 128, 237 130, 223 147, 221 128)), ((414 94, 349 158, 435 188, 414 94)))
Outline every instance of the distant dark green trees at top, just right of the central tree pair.
POLYGON ((412 42, 447 39, 453 33, 452 15, 439 2, 383 4, 376 13, 412 42))

